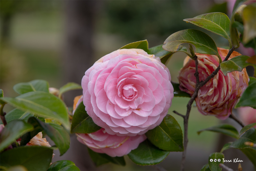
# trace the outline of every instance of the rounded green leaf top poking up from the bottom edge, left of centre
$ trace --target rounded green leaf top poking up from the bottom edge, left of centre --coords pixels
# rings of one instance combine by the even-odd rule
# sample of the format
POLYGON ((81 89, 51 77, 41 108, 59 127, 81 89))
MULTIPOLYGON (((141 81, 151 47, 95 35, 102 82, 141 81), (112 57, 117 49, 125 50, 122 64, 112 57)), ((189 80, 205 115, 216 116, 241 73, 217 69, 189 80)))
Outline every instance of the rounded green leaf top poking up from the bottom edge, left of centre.
POLYGON ((47 171, 80 171, 80 169, 70 160, 59 160, 52 163, 47 171))

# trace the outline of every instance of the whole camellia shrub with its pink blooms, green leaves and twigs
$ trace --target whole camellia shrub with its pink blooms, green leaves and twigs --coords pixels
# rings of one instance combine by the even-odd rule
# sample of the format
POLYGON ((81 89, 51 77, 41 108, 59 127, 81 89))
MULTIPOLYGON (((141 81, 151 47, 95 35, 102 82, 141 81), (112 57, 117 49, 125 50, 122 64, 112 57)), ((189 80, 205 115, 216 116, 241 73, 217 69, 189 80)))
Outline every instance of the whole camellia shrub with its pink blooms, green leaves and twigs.
POLYGON ((241 150, 255 167, 256 123, 244 125, 232 114, 236 107, 256 109, 256 74, 249 77, 245 69, 255 67, 255 55, 235 51, 240 43, 256 49, 255 12, 256 3, 241 0, 231 18, 215 12, 184 19, 226 38, 227 49, 217 47, 202 31, 186 29, 170 35, 163 45, 148 48, 148 41, 138 41, 103 56, 85 72, 81 85, 68 83, 56 89, 49 88, 47 81, 33 80, 16 84, 13 89, 19 96, 15 98, 4 97, 0 90, 0 169, 79 170, 68 160, 51 163, 53 149, 63 155, 70 147, 70 133, 76 133, 96 166, 108 162, 125 166, 124 155, 138 165, 156 165, 170 152, 181 151, 184 170, 193 101, 203 115, 230 117, 242 126, 240 133, 228 124, 198 131, 236 138, 209 154, 202 170, 226 167, 222 152, 229 148, 241 150), (187 55, 179 83, 172 82, 165 66, 175 52, 187 55), (67 107, 63 94, 76 89, 83 94, 75 98, 73 108, 67 107), (168 114, 175 97, 190 98, 186 113, 168 114), (6 104, 15 109, 6 114, 6 104), (173 114, 183 117, 184 131, 173 114), (55 143, 53 147, 43 133, 55 143))

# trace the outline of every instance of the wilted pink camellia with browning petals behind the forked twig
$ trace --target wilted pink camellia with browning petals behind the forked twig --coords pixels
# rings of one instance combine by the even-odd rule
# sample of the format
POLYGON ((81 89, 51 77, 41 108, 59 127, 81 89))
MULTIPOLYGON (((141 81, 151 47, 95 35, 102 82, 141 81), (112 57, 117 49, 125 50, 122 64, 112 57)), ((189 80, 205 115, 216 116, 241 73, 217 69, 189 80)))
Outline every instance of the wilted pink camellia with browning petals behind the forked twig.
MULTIPOLYGON (((218 48, 222 60, 226 57, 228 50, 218 48)), ((219 65, 218 57, 215 55, 198 54, 198 72, 199 80, 203 81, 209 76, 219 65)), ((230 58, 241 55, 238 52, 233 52, 230 58)), ((180 70, 178 79, 180 81, 180 90, 185 91, 192 95, 195 91, 195 61, 186 57, 184 60, 183 68, 180 70)), ((246 69, 241 72, 229 72, 225 76, 221 70, 218 74, 207 82, 198 91, 196 97, 196 105, 199 112, 203 115, 216 116, 219 119, 227 119, 236 104, 248 86, 249 77, 246 69)))

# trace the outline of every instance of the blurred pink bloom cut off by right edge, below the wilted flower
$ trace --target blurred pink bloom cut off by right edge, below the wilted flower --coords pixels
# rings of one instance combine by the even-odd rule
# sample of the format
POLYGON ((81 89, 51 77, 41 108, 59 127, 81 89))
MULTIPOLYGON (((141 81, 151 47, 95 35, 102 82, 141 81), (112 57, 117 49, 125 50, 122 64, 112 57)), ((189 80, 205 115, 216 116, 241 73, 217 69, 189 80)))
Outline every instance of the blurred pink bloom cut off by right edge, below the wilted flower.
MULTIPOLYGON (((252 107, 239 107, 237 108, 241 121, 245 125, 249 125, 256 122, 256 109, 252 107)), ((256 128, 256 126, 254 126, 256 128)))

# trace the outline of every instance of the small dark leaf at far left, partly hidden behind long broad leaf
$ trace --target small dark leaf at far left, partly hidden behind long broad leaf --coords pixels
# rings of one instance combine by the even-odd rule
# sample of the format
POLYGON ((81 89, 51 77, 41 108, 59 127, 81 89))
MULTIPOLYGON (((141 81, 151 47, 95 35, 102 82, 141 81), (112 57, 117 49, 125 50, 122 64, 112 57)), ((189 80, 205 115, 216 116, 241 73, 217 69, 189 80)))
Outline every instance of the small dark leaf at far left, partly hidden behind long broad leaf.
MULTIPOLYGON (((34 116, 33 114, 31 114, 30 112, 24 112, 22 110, 19 110, 17 108, 15 108, 14 110, 11 110, 10 112, 8 112, 5 115, 6 118, 6 122, 9 123, 12 120, 24 120, 25 122, 29 119, 29 117, 34 116)), ((0 121, 0 124, 3 124, 2 121, 0 121)))

